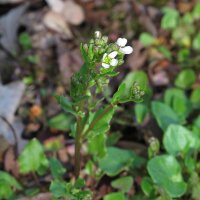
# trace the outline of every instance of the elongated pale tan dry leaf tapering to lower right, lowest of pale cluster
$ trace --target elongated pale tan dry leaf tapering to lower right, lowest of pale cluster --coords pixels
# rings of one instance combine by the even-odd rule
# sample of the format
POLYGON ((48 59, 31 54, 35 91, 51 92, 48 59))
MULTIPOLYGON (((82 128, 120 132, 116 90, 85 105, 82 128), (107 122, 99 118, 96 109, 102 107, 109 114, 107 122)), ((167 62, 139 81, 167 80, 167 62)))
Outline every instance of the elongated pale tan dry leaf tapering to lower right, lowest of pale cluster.
POLYGON ((60 34, 65 39, 72 38, 72 32, 69 28, 69 25, 66 23, 65 19, 60 13, 49 11, 44 16, 44 24, 49 28, 52 29, 60 34))

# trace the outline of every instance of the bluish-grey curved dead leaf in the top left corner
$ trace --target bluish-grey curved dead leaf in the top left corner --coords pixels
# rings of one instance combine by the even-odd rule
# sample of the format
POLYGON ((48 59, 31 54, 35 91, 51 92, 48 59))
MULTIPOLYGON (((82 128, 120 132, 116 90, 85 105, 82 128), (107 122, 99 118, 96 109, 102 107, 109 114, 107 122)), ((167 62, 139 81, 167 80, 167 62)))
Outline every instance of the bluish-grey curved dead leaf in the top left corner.
POLYGON ((28 6, 29 4, 18 6, 0 18, 0 44, 10 53, 17 51, 17 31, 28 6))

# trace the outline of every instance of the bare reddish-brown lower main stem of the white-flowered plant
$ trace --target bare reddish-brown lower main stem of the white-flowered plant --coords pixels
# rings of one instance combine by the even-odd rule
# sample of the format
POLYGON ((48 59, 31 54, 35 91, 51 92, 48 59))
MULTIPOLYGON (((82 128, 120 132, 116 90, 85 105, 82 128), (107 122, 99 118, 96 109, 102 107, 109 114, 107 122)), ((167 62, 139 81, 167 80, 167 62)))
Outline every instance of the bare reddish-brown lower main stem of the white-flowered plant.
POLYGON ((78 178, 81 169, 81 117, 77 117, 77 128, 75 136, 75 177, 78 178))

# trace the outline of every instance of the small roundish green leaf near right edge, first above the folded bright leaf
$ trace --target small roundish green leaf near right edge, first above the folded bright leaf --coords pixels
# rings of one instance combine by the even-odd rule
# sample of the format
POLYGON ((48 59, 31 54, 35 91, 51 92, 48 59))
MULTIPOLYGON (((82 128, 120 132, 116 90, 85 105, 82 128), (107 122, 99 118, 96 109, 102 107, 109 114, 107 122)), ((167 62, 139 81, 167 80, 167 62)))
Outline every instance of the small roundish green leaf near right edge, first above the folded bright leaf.
POLYGON ((191 69, 182 70, 176 80, 175 85, 182 89, 189 89, 196 81, 196 74, 191 69))

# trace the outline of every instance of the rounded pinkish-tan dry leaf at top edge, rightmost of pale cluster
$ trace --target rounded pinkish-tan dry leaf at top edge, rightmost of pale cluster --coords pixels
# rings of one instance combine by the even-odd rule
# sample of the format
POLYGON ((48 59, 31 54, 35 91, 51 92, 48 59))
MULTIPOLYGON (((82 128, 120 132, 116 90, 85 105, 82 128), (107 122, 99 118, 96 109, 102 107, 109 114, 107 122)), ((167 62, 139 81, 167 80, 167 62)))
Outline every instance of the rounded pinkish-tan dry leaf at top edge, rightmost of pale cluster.
POLYGON ((83 8, 71 0, 65 2, 62 13, 65 20, 72 25, 79 25, 85 20, 83 8))

